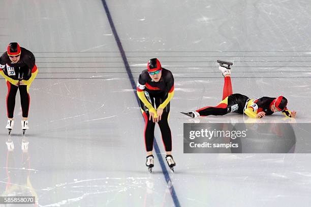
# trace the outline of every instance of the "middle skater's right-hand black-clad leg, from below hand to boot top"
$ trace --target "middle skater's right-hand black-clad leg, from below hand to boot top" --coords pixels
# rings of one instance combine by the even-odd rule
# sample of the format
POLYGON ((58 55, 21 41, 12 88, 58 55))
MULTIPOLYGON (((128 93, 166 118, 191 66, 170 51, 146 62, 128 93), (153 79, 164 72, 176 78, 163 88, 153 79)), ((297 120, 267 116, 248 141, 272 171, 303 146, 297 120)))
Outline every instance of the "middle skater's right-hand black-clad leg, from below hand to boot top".
POLYGON ((162 141, 166 154, 171 154, 172 151, 172 135, 168 124, 169 112, 164 111, 161 120, 158 122, 161 130, 162 141))

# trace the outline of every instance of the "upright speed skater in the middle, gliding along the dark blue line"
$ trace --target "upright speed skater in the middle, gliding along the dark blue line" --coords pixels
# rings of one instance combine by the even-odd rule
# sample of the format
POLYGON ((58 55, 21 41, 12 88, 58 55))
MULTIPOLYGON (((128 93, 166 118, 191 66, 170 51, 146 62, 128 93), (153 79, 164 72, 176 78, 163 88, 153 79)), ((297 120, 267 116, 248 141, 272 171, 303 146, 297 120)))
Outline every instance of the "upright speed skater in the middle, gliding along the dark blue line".
POLYGON ((146 166, 151 173, 154 165, 152 155, 154 126, 155 123, 158 123, 166 151, 166 161, 169 168, 174 171, 176 163, 171 154, 172 135, 168 124, 170 100, 174 96, 174 77, 171 71, 161 67, 157 58, 150 59, 147 69, 140 73, 137 82, 137 95, 145 119, 146 166))

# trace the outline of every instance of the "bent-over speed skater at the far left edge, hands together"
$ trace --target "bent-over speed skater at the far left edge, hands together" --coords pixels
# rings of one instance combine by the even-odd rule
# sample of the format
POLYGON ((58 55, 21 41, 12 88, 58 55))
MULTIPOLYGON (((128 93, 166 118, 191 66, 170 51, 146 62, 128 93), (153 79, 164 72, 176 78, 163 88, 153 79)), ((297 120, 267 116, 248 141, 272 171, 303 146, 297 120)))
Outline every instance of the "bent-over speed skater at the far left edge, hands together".
POLYGON ((22 48, 18 43, 10 43, 7 52, 0 57, 0 74, 6 79, 8 86, 7 114, 8 124, 6 128, 9 135, 14 127, 14 108, 17 90, 20 94, 22 108, 21 126, 23 134, 28 127, 28 111, 30 96, 28 90, 37 76, 35 56, 32 52, 22 48))

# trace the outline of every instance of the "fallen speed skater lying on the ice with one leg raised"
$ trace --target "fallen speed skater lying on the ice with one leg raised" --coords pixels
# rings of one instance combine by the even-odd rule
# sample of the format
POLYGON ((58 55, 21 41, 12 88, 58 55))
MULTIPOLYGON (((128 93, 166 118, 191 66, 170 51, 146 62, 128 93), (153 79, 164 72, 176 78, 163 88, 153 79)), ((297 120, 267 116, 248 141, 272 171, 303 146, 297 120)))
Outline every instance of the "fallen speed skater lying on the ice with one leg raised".
POLYGON ((196 118, 199 116, 208 115, 225 115, 235 112, 246 114, 252 118, 262 118, 266 115, 271 115, 275 112, 282 112, 287 117, 296 117, 296 111, 290 111, 287 108, 287 99, 284 96, 276 98, 260 97, 250 99, 242 94, 233 94, 231 85, 231 62, 217 61, 221 64, 219 69, 225 77, 223 100, 216 106, 206 106, 196 111, 181 112, 182 114, 196 118), (225 65, 228 66, 225 66, 225 65))

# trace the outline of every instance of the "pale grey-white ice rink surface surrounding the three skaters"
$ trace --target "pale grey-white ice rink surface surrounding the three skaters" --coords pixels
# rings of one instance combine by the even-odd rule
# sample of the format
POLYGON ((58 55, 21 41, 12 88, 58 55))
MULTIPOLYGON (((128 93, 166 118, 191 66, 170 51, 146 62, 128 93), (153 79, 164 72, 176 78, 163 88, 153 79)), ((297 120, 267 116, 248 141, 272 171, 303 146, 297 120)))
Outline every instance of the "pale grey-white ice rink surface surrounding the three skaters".
MULTIPOLYGON (((1 1, 0 48, 18 42, 34 52, 39 74, 24 138, 17 95, 8 139, 0 82, 0 194, 35 195, 37 206, 309 206, 311 155, 183 154, 183 123, 193 120, 179 112, 221 100, 215 61, 223 59, 234 62, 234 93, 284 95, 295 121, 311 122, 311 3, 106 2, 135 82, 153 57, 173 72, 175 173, 159 159, 147 172, 144 121, 102 1, 1 1)), ((294 120, 274 114, 260 121, 294 120)), ((155 139, 164 157, 159 129, 155 139)))

